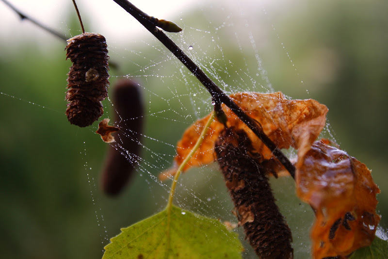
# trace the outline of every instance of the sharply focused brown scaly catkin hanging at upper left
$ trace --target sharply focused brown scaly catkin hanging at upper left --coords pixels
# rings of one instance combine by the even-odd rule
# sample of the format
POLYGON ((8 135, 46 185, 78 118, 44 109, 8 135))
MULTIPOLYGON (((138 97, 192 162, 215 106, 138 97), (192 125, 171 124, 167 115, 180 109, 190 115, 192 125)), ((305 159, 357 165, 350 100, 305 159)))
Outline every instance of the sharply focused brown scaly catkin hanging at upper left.
POLYGON ((66 116, 71 124, 87 127, 104 113, 101 101, 108 96, 108 49, 105 37, 84 32, 67 40, 66 59, 73 65, 67 74, 66 116))

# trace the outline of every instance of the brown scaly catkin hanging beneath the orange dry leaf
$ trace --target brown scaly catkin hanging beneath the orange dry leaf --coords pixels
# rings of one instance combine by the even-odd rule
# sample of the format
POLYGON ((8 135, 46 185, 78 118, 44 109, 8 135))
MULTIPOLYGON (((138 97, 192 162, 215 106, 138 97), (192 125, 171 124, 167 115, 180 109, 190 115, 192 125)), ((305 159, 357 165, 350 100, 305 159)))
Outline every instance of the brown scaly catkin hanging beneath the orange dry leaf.
POLYGON ((291 259, 291 230, 275 204, 275 197, 259 164, 259 154, 242 130, 227 128, 215 143, 239 225, 260 259, 291 259), (255 158, 256 156, 256 158, 255 158))

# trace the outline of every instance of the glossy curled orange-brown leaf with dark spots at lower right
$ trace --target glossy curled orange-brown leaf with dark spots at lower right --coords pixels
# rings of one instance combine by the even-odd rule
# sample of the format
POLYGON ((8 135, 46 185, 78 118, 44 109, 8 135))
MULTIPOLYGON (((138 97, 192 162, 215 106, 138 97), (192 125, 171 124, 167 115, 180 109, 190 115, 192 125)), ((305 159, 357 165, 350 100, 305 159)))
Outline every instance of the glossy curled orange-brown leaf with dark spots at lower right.
POLYGON ((316 259, 345 257, 374 239, 380 216, 376 194, 365 164, 336 147, 315 142, 298 153, 297 195, 316 211, 311 229, 316 259))

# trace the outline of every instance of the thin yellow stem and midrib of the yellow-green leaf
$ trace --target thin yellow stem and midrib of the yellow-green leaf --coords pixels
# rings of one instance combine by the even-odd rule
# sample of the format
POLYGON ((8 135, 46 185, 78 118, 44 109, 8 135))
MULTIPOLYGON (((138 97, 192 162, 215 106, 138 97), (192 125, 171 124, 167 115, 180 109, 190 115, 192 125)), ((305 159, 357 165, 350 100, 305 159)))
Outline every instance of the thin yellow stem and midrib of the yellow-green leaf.
POLYGON ((206 133, 208 132, 208 129, 210 127, 211 122, 214 120, 215 112, 212 112, 210 114, 209 120, 206 122, 204 128, 202 129, 201 134, 199 135, 199 138, 197 142, 195 143, 193 149, 190 151, 190 153, 187 155, 187 157, 183 160, 183 162, 179 165, 177 173, 175 174, 175 177, 173 179, 173 183, 171 184, 171 190, 170 190, 170 195, 168 198, 168 203, 166 206, 167 210, 167 230, 166 230, 166 236, 167 236, 167 249, 166 249, 166 257, 168 257, 168 251, 170 250, 170 225, 171 225, 171 209, 173 205, 173 200, 174 200, 174 194, 175 194, 175 188, 177 187, 178 183, 178 178, 180 176, 180 173, 182 172, 184 166, 189 162, 189 160, 193 157, 195 151, 201 146, 202 141, 204 140, 204 137, 206 133))

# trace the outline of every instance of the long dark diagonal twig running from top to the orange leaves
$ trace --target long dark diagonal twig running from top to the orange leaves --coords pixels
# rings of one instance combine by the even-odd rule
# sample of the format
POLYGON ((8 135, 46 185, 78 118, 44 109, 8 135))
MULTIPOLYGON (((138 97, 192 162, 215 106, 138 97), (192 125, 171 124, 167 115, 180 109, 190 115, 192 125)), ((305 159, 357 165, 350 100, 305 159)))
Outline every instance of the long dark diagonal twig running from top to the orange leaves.
MULTIPOLYGON (((292 178, 295 178, 295 167, 288 158, 281 152, 274 142, 263 132, 257 122, 249 117, 242 109, 228 97, 211 79, 161 30, 155 27, 151 22, 150 16, 138 9, 127 0, 113 0, 126 10, 130 15, 137 19, 149 32, 151 32, 167 49, 169 49, 182 63, 185 65, 194 76, 206 87, 211 97, 218 102, 225 103, 249 129, 251 129, 259 139, 267 146, 274 156, 283 164, 289 171, 292 178)), ((216 102, 217 102, 216 101, 216 102)))

